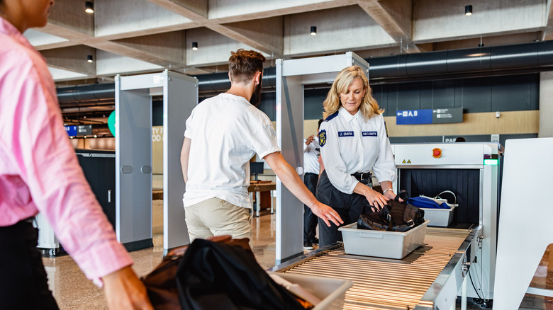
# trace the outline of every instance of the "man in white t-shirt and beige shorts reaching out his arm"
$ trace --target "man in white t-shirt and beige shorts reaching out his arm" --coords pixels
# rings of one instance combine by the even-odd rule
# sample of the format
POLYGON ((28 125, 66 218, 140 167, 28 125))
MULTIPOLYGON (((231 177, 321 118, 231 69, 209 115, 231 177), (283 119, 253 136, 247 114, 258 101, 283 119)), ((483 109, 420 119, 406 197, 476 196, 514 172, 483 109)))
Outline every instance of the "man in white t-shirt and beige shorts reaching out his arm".
POLYGON ((337 212, 318 202, 284 160, 269 117, 256 108, 265 57, 242 49, 230 54, 230 89, 202 101, 186 120, 181 166, 190 241, 224 234, 251 239, 252 207, 247 188, 249 162, 256 153, 325 224, 342 223, 337 212))

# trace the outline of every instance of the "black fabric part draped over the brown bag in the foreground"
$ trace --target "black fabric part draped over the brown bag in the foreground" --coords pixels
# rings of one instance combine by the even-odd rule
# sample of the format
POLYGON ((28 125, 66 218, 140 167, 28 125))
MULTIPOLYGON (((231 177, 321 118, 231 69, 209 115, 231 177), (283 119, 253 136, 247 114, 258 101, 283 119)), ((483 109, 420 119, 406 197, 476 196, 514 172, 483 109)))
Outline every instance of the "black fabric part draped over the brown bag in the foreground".
POLYGON ((304 309, 237 246, 194 240, 176 280, 181 309, 304 309))

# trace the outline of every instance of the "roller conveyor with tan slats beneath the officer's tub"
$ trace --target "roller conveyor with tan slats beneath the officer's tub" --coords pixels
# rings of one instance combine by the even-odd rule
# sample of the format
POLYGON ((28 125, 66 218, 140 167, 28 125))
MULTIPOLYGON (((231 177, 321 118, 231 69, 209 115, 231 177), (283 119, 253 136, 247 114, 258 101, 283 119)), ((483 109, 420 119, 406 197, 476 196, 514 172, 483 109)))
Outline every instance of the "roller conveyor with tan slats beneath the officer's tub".
POLYGON ((277 271, 352 280, 344 309, 413 309, 469 233, 428 228, 423 246, 402 260, 348 255, 339 243, 277 271))

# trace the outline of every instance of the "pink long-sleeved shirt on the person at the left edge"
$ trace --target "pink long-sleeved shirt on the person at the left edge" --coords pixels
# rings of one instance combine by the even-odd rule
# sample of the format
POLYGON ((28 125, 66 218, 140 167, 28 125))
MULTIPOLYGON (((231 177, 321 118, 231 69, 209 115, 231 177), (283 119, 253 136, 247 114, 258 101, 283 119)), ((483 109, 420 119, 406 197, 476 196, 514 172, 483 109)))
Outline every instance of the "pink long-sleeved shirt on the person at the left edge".
POLYGON ((0 226, 38 212, 96 285, 133 263, 69 144, 45 59, 0 17, 0 226))

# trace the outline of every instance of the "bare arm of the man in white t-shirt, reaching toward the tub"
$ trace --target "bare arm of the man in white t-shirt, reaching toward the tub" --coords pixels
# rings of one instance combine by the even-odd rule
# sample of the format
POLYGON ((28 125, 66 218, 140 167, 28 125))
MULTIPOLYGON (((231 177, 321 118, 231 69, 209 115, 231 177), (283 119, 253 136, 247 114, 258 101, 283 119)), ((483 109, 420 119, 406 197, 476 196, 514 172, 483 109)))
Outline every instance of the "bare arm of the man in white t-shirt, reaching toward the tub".
POLYGON ((336 226, 344 223, 340 215, 333 208, 318 202, 315 196, 306 188, 306 185, 303 185, 303 181, 298 176, 298 173, 286 162, 279 151, 268 154, 263 159, 271 166, 284 186, 303 204, 307 205, 313 214, 323 219, 329 227, 330 222, 333 222, 336 226))

